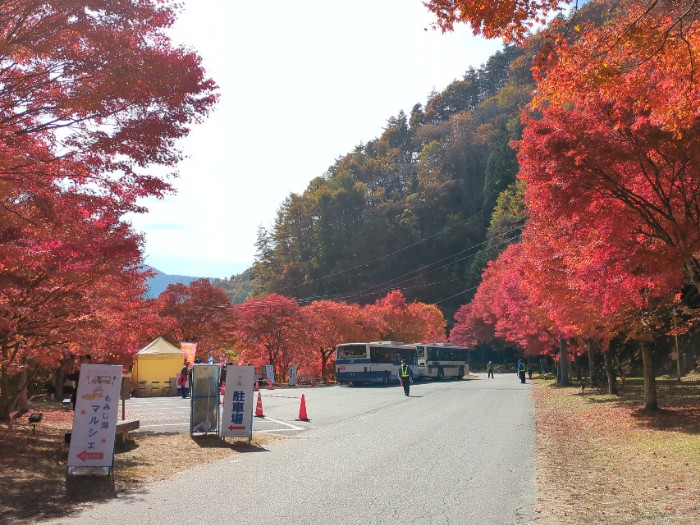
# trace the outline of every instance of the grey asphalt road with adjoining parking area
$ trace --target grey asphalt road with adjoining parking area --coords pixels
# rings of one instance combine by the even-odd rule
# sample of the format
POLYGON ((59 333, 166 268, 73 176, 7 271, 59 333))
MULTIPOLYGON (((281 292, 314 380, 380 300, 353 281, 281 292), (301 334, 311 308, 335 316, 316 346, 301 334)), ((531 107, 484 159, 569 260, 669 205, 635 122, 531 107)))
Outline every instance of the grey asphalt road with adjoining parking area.
MULTIPOLYGON (((534 408, 530 385, 514 374, 418 383, 408 398, 398 386, 276 389, 261 398, 266 418, 255 418, 254 431, 293 438, 45 523, 533 521, 534 408), (296 420, 302 393, 309 422, 296 420)), ((146 414, 134 401, 127 417, 146 414)))

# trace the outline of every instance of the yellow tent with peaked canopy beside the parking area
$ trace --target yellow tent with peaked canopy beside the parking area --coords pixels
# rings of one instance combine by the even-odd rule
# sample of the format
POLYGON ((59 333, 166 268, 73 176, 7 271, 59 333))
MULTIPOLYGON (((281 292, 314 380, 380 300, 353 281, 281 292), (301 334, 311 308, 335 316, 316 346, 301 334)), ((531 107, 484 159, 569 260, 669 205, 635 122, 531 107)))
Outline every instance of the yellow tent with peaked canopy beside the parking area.
POLYGON ((131 381, 139 397, 170 395, 171 379, 184 365, 184 353, 162 337, 136 354, 131 381))

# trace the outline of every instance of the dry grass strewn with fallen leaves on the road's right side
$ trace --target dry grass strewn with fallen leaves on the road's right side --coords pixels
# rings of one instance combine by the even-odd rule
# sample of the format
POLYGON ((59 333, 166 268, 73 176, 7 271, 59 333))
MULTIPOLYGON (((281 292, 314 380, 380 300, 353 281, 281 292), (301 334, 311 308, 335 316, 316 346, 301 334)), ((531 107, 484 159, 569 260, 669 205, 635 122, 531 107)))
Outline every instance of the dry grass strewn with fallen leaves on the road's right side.
POLYGON ((700 522, 699 379, 659 379, 655 413, 641 380, 620 397, 537 380, 537 523, 700 522))

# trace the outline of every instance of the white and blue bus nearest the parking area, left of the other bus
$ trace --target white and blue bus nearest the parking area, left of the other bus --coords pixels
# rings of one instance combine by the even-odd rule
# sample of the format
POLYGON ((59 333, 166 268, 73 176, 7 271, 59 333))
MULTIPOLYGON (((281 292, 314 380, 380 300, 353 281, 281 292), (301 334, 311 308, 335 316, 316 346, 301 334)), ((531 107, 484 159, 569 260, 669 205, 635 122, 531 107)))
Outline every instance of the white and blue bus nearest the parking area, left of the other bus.
POLYGON ((413 369, 413 379, 420 377, 416 369, 416 347, 398 341, 343 343, 335 349, 335 378, 338 383, 397 382, 401 360, 413 369))

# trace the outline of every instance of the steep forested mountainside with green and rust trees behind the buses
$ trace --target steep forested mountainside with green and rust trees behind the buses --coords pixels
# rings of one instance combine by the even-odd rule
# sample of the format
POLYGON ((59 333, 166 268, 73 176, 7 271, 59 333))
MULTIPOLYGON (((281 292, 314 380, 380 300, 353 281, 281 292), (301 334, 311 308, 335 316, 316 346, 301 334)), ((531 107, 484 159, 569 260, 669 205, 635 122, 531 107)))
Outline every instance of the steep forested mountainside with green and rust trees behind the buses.
MULTIPOLYGON (((534 45, 507 46, 338 159, 258 232, 258 291, 364 304, 392 289, 451 314, 519 224, 489 224, 515 181, 509 142, 533 89, 534 45)), ((517 219, 516 219, 517 221, 517 219)))

